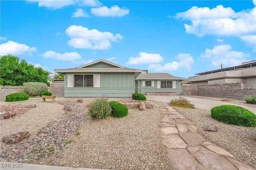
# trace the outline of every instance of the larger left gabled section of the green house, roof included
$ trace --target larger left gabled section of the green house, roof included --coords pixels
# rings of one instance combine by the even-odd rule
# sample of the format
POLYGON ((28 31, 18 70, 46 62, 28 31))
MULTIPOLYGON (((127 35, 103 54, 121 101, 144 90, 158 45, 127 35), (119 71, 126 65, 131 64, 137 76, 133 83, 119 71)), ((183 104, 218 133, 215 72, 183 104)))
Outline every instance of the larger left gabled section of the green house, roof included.
POLYGON ((63 73, 64 97, 131 98, 135 78, 142 72, 105 60, 98 60, 76 68, 58 69, 63 73))

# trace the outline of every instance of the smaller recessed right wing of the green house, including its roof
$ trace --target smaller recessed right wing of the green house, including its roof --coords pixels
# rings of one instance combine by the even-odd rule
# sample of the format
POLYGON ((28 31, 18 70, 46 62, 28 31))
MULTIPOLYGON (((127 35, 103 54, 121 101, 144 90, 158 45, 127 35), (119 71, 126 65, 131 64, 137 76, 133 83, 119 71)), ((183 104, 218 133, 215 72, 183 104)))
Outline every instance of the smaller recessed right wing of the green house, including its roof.
POLYGON ((175 77, 168 73, 148 73, 143 71, 135 79, 138 84, 138 93, 148 92, 172 92, 180 95, 181 81, 186 78, 175 77))

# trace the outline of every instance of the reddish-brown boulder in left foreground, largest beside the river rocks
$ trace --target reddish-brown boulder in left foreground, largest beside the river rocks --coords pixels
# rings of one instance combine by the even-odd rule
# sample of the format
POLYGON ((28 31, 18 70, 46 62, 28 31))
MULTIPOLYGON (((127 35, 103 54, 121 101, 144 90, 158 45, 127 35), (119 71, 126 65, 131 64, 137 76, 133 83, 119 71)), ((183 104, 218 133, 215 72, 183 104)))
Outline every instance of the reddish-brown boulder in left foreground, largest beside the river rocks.
POLYGON ((19 133, 14 133, 12 135, 3 137, 3 142, 5 144, 12 144, 12 143, 19 143, 25 138, 28 138, 29 132, 28 131, 22 131, 19 133))

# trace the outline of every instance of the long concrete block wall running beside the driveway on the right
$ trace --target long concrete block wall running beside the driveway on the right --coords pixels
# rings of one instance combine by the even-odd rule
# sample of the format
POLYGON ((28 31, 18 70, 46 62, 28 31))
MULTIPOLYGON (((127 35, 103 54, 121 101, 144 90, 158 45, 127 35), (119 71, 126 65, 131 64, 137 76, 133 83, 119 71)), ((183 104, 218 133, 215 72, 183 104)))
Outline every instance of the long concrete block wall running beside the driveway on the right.
POLYGON ((182 86, 181 95, 244 100, 245 96, 256 95, 256 89, 243 89, 243 84, 184 85, 182 86))

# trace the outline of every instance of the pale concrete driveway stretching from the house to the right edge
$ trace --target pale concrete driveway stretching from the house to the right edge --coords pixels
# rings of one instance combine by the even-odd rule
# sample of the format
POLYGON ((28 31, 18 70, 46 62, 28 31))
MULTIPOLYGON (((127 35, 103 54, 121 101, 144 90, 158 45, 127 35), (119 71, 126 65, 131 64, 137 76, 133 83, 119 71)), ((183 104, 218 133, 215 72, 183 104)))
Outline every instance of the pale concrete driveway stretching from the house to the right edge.
POLYGON ((215 101, 215 100, 193 98, 188 96, 146 96, 147 100, 154 100, 154 101, 160 101, 160 102, 170 102, 170 100, 174 98, 179 98, 179 97, 183 97, 190 100, 190 102, 194 104, 195 107, 200 109, 211 110, 213 107, 228 104, 228 105, 236 105, 236 106, 244 107, 245 109, 248 109, 252 111, 252 113, 256 114, 256 108, 254 107, 242 106, 238 104, 231 104, 231 103, 215 101))

